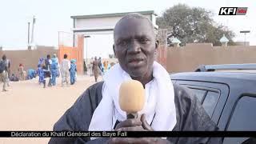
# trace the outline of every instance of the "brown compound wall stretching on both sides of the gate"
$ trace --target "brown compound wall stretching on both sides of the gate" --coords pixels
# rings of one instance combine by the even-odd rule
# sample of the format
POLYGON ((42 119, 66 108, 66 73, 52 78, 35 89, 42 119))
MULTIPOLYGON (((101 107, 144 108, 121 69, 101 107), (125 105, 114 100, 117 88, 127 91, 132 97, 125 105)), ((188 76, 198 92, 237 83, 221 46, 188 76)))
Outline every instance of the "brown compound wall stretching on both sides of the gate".
MULTIPOLYGON (((82 46, 81 46, 82 47, 82 46)), ((18 65, 25 70, 37 70, 38 59, 47 54, 59 54, 58 50, 45 48, 38 50, 0 50, 0 57, 6 54, 10 59, 11 74, 18 74, 18 65)), ((79 53, 82 60, 82 52, 79 53)), ((211 44, 186 44, 183 47, 159 46, 156 59, 169 73, 194 71, 201 65, 256 63, 256 46, 212 46, 211 44)), ((62 58, 62 56, 61 56, 62 58)), ((78 65, 82 71, 82 61, 78 65)))

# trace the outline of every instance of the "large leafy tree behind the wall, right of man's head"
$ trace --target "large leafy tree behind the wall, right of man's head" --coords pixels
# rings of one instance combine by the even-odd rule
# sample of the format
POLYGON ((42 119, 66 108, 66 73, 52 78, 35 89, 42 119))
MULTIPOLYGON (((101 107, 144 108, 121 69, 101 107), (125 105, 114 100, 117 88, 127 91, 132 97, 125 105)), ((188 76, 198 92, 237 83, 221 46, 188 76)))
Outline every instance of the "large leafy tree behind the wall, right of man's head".
POLYGON ((213 13, 200 7, 178 4, 167 9, 157 18, 160 29, 168 29, 168 38, 178 38, 182 46, 189 42, 212 42, 219 46, 219 39, 225 34, 230 43, 234 43, 234 32, 214 22, 213 13))

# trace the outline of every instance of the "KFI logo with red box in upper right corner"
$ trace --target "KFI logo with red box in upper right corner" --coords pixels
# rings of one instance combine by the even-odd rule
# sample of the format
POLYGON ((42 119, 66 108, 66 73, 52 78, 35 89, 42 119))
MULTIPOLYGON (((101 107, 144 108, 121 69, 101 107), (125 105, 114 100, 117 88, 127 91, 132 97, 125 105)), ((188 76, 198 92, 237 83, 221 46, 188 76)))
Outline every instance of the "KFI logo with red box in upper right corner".
POLYGON ((221 7, 218 15, 246 15, 248 7, 221 7))

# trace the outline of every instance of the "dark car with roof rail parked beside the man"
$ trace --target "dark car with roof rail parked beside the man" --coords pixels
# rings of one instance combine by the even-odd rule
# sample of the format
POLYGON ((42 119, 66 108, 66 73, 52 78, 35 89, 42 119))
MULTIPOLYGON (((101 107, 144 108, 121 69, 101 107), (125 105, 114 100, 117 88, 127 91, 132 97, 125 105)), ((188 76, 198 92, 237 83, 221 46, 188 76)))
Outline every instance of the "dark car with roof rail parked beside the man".
MULTIPOLYGON (((256 64, 200 66, 170 78, 194 92, 219 130, 256 131, 256 64)), ((223 143, 246 140, 223 138, 223 143)))

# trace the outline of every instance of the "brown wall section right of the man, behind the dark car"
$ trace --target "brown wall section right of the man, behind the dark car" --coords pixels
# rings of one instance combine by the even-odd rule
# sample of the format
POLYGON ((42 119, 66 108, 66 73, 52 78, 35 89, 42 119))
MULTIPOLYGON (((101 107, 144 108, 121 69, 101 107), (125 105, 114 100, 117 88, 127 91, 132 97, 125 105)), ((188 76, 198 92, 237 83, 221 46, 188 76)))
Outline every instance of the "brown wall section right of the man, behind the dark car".
POLYGON ((166 70, 169 73, 194 71, 201 65, 256 63, 256 46, 186 44, 163 49, 166 50, 166 70))

